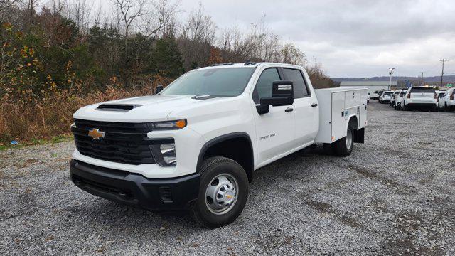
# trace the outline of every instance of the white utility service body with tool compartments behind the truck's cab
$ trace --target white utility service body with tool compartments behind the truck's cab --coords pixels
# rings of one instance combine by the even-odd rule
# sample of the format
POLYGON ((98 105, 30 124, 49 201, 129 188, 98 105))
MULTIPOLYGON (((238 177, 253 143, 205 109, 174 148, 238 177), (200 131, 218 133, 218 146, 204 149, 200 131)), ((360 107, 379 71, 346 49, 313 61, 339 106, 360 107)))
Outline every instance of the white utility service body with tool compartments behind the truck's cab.
POLYGON ((318 143, 346 137, 350 117, 358 118, 358 129, 367 125, 367 88, 338 87, 315 90, 319 102, 318 143))

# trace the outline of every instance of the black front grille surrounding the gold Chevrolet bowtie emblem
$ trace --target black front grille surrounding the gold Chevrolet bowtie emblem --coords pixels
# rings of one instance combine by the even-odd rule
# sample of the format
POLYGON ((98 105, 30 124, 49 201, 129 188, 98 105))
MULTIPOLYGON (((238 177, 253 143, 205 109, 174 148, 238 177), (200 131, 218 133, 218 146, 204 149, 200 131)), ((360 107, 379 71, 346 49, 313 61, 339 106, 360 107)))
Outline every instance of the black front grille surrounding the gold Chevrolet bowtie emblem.
POLYGON ((147 137, 146 123, 100 122, 75 119, 71 128, 77 151, 95 159, 122 164, 155 164, 151 154, 152 141, 147 137), (105 137, 93 139, 90 129, 100 129, 105 137))

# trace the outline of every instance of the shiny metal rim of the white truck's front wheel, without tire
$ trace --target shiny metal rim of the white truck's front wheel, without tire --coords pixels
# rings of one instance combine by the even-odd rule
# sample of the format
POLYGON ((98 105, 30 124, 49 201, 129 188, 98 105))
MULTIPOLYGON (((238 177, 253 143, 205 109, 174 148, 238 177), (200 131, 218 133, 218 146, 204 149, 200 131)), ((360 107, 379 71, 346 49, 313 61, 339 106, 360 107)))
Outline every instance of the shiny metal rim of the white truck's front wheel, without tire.
POLYGON ((211 213, 228 213, 237 202, 238 183, 230 174, 220 174, 210 181, 205 190, 205 204, 211 213))

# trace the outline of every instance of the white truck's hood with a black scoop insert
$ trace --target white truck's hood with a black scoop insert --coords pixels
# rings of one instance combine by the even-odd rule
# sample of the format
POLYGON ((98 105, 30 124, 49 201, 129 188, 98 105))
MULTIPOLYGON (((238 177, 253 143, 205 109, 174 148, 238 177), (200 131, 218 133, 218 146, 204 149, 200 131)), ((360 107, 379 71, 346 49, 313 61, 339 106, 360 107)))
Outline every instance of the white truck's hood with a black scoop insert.
POLYGON ((168 114, 174 110, 187 110, 220 100, 220 98, 196 100, 192 98, 193 96, 151 95, 112 100, 81 107, 73 114, 73 117, 76 119, 110 122, 156 122, 166 120, 168 114), (101 104, 137 105, 137 107, 128 111, 95 110, 101 104))

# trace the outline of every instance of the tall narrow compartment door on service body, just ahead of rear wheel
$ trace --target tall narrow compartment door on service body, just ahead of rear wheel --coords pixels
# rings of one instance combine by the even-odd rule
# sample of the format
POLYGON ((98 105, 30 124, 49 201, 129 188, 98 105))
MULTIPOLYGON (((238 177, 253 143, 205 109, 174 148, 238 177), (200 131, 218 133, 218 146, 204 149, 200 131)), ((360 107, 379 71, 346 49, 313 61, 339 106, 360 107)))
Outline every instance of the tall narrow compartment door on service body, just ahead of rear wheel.
MULTIPOLYGON (((344 118, 345 95, 349 95, 349 93, 332 93, 332 142, 346 137, 346 119, 344 118)), ((352 97, 352 92, 350 97, 352 97)))

